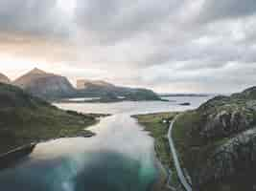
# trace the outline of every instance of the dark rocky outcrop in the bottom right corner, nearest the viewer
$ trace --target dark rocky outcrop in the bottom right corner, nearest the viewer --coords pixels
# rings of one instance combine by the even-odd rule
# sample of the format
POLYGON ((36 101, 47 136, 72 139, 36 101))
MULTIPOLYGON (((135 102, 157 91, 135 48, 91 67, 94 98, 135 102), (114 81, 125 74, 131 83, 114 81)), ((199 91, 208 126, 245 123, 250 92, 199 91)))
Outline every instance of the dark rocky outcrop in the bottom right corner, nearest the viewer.
MULTIPOLYGON (((194 174, 194 183, 203 190, 209 182, 229 184, 231 188, 239 178, 246 181, 246 187, 253 190, 256 170, 256 128, 230 138, 218 147, 194 174), (250 177, 253 176, 253 177, 250 177), (233 182, 232 182, 233 181, 233 182)), ((239 181, 239 180, 238 180, 239 181)), ((240 181, 241 182, 241 181, 240 181)))

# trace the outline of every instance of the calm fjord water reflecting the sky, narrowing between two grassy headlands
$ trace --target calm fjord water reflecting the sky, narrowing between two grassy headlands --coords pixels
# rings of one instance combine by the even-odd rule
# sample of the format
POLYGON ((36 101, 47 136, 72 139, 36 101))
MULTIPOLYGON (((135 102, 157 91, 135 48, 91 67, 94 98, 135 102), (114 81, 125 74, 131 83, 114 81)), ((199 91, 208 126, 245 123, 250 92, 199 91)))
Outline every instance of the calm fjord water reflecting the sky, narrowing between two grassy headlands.
POLYGON ((15 167, 0 172, 4 191, 147 191, 158 179, 153 139, 131 115, 197 108, 209 97, 176 102, 62 103, 62 109, 107 113, 90 128, 93 138, 60 138, 35 147, 15 167), (191 106, 178 103, 191 102, 191 106))

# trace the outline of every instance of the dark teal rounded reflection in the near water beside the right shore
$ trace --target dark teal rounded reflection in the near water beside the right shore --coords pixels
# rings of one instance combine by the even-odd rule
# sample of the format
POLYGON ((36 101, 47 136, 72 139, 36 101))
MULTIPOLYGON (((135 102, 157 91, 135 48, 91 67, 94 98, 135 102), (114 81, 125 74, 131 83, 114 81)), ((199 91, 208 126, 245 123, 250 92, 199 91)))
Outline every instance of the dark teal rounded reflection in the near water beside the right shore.
POLYGON ((111 152, 92 155, 89 167, 76 177, 76 190, 141 191, 154 179, 154 169, 139 160, 111 152))

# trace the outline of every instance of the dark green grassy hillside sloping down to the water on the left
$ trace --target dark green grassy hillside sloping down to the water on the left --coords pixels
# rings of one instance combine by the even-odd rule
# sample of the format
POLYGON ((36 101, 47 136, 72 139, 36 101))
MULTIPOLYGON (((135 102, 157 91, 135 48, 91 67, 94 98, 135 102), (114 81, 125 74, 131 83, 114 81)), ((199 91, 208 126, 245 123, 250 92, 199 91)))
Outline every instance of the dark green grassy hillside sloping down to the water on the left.
POLYGON ((63 137, 90 137, 84 128, 93 115, 62 111, 23 90, 0 83, 0 154, 30 142, 63 137))

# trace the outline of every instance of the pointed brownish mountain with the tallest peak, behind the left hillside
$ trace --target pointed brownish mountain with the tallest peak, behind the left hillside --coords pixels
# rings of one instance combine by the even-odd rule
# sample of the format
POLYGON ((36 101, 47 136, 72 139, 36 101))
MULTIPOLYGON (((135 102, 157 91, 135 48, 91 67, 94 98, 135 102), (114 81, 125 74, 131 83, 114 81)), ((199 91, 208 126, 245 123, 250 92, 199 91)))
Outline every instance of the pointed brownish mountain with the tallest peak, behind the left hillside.
POLYGON ((36 68, 28 74, 17 78, 13 84, 34 96, 45 99, 68 97, 76 93, 66 77, 45 73, 36 68))

